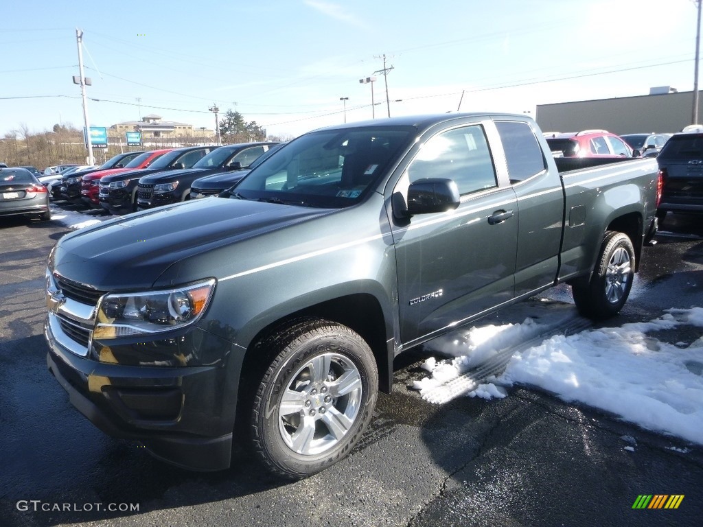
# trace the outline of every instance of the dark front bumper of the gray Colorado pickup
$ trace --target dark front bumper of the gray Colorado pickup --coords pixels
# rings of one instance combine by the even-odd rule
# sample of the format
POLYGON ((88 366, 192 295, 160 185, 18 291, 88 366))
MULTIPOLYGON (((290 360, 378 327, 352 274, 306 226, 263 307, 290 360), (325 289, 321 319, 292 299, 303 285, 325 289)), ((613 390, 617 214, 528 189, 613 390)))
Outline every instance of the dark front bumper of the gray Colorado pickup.
MULTIPOLYGON (((226 361, 183 367, 106 363, 94 357, 96 346, 86 349, 70 339, 51 313, 44 335, 47 367, 98 429, 141 441, 155 457, 179 467, 229 467, 238 375, 228 375, 226 361)), ((207 333, 207 339, 219 337, 207 333)), ((215 345, 228 344, 219 339, 215 345)), ((101 356, 125 356, 119 347, 112 353, 103 346, 101 356)))

